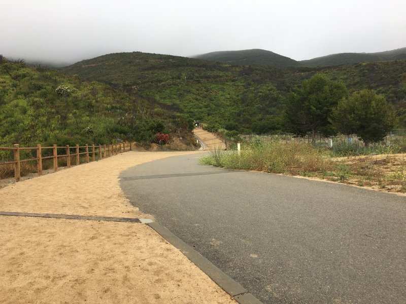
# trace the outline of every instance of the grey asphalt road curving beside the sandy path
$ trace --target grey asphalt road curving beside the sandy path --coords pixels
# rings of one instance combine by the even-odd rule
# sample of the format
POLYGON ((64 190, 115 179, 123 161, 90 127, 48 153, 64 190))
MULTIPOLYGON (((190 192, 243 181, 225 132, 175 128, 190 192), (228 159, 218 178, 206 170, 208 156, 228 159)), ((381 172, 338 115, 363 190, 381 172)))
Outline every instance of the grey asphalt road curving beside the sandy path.
POLYGON ((406 303, 406 197, 198 157, 130 168, 121 187, 263 303, 406 303))

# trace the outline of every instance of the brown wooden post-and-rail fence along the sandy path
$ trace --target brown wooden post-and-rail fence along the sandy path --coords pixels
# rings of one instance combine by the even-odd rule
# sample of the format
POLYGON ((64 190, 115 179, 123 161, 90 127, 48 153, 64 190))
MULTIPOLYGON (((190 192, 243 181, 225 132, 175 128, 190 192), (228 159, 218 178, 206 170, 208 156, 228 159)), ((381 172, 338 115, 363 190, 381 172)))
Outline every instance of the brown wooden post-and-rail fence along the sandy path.
POLYGON ((0 166, 2 165, 10 165, 14 164, 14 178, 15 181, 19 181, 21 177, 21 163, 29 162, 29 161, 37 161, 37 172, 38 175, 42 175, 42 161, 46 159, 53 159, 53 170, 56 172, 58 171, 58 158, 66 158, 66 166, 67 168, 71 168, 71 157, 76 157, 76 165, 80 164, 80 156, 84 155, 86 158, 86 163, 96 160, 96 156, 98 159, 104 159, 113 155, 117 155, 119 153, 123 153, 126 151, 132 150, 134 147, 134 142, 129 143, 117 143, 117 144, 110 144, 110 145, 84 145, 84 146, 57 146, 54 144, 52 147, 42 147, 38 144, 36 147, 20 147, 18 144, 15 144, 14 147, 0 147, 0 150, 9 150, 13 151, 14 160, 10 162, 0 162, 0 166), (43 156, 43 149, 52 149, 51 156, 43 156), (65 154, 58 155, 58 149, 65 151, 65 154), (20 151, 22 150, 33 150, 37 151, 36 158, 28 158, 28 159, 20 159, 20 151), (80 152, 80 150, 84 150, 84 152, 80 152), (74 152, 74 153, 71 153, 74 152))

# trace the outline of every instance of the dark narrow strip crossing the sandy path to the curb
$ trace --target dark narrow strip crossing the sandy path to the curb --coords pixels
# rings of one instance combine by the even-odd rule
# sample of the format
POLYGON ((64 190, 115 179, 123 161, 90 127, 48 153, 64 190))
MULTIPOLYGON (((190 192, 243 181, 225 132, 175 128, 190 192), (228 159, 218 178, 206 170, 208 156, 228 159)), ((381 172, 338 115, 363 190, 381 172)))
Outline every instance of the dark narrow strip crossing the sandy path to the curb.
POLYGON ((5 211, 0 211, 0 215, 4 215, 4 216, 23 216, 23 217, 62 218, 62 219, 79 219, 79 220, 94 220, 94 221, 132 222, 132 223, 149 223, 149 222, 152 221, 151 219, 148 219, 148 218, 88 216, 88 215, 52 214, 52 213, 5 212, 5 211))

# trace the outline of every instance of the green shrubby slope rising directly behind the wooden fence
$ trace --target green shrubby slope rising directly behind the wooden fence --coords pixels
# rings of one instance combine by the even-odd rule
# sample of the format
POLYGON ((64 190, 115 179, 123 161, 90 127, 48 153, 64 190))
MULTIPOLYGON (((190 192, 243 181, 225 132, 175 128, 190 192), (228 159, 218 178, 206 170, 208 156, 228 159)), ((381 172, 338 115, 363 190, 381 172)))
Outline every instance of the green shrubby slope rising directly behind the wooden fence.
POLYGON ((151 142, 158 132, 194 142, 192 120, 140 96, 0 56, 0 146, 151 142))

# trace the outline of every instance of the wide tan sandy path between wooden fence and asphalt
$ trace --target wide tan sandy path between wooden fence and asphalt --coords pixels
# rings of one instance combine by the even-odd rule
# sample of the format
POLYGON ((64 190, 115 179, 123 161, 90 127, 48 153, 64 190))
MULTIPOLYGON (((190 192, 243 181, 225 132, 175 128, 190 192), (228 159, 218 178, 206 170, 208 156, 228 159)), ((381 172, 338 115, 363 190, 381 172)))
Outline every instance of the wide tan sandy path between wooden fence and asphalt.
MULTIPOLYGON (((151 217, 132 207, 120 171, 196 152, 113 156, 0 189, 0 211, 151 217)), ((0 303, 235 303, 141 223, 0 216, 0 303)))

